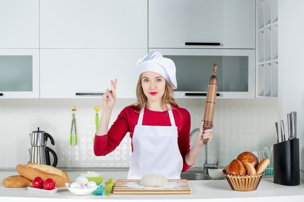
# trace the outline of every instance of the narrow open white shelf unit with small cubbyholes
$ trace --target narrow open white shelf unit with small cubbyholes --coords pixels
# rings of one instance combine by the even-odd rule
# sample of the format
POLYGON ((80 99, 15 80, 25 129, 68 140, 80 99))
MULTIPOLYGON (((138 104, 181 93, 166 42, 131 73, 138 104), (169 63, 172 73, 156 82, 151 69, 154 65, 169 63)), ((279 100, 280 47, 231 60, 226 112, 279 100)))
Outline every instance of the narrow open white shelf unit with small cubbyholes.
POLYGON ((256 97, 278 97, 278 1, 257 0, 256 97))

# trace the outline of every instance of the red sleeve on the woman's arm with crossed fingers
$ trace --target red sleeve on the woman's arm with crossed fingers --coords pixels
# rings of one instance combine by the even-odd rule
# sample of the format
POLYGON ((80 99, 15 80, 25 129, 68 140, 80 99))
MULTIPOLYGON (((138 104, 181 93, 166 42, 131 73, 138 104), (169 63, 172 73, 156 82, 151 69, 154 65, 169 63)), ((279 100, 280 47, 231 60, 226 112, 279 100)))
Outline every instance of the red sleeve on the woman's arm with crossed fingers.
POLYGON ((94 154, 95 155, 107 155, 114 151, 120 144, 121 140, 129 132, 128 113, 127 108, 122 109, 119 113, 116 121, 110 127, 108 133, 103 136, 97 136, 95 134, 94 140, 94 154))

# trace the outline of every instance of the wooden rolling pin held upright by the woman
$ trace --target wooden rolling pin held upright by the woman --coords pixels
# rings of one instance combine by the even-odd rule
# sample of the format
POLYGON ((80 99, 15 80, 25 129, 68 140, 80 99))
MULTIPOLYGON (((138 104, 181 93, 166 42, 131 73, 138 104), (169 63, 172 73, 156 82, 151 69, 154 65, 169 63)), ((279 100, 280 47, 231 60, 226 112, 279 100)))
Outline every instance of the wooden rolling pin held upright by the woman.
MULTIPOLYGON (((209 79, 207 99, 204 113, 204 124, 203 130, 212 128, 214 109, 215 109, 215 99, 217 98, 218 91, 218 78, 216 77, 218 70, 218 64, 213 64, 212 77, 209 79)), ((203 140, 203 144, 207 144, 208 140, 203 140)))

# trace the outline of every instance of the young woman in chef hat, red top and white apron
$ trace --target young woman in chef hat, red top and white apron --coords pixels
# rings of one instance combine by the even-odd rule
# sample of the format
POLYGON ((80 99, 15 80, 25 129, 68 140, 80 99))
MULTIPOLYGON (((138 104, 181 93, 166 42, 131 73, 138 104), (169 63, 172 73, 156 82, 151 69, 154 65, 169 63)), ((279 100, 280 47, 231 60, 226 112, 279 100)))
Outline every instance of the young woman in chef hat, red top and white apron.
POLYGON ((95 155, 107 155, 119 145, 127 132, 132 139, 128 179, 141 179, 145 174, 158 173, 167 179, 180 179, 196 161, 203 140, 212 139, 212 129, 203 131, 190 149, 190 114, 179 108, 172 97, 177 88, 175 64, 160 52, 139 59, 137 103, 122 109, 110 127, 109 121, 116 101, 117 80, 111 91, 102 96, 102 115, 94 142, 95 155))

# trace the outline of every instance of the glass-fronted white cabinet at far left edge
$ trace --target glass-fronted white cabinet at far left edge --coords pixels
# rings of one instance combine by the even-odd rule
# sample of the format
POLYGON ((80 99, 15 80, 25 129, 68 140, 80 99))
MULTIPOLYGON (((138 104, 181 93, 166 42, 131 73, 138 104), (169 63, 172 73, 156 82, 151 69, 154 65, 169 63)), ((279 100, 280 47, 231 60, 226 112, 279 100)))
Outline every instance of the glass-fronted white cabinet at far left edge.
POLYGON ((39 49, 0 49, 0 98, 39 98, 39 49))

